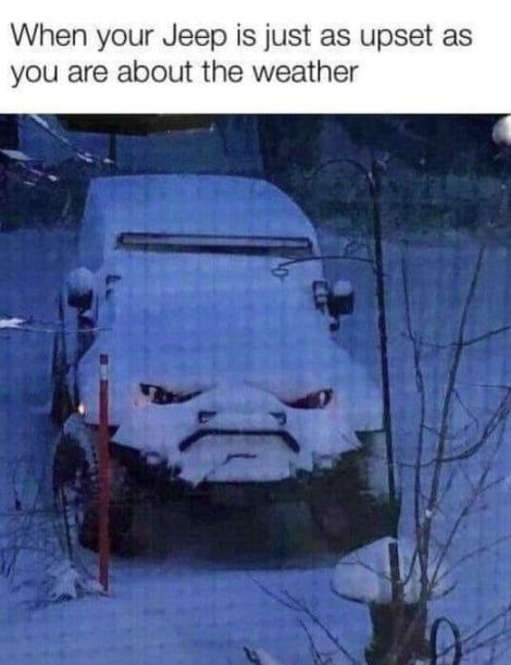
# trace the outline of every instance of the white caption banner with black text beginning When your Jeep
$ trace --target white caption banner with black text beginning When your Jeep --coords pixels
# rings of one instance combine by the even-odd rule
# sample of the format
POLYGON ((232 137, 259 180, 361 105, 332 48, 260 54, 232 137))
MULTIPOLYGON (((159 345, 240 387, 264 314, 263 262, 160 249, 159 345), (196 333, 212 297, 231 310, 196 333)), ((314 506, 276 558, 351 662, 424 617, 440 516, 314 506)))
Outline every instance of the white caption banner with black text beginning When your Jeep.
POLYGON ((0 111, 508 113, 504 3, 0 7, 0 111))

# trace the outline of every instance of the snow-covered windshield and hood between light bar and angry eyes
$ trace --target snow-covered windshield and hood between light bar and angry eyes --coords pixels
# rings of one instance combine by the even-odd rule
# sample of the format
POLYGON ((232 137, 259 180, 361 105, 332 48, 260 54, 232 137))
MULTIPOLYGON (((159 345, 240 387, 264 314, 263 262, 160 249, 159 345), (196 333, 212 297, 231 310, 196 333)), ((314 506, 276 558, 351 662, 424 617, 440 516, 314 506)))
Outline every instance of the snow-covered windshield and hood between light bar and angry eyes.
POLYGON ((247 382, 282 397, 329 387, 339 352, 315 309, 317 266, 275 278, 276 259, 123 257, 107 304, 108 329, 82 361, 109 353, 112 372, 170 390, 204 390, 220 380, 247 382))

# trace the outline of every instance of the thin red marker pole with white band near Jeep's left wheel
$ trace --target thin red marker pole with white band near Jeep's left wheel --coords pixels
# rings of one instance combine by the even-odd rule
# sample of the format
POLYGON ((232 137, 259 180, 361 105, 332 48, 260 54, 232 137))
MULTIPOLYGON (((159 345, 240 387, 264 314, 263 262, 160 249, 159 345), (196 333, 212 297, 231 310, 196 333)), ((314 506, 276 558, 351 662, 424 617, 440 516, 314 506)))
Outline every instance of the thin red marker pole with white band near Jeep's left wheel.
POLYGON ((110 564, 110 432, 109 432, 109 357, 99 357, 99 583, 109 590, 110 564))

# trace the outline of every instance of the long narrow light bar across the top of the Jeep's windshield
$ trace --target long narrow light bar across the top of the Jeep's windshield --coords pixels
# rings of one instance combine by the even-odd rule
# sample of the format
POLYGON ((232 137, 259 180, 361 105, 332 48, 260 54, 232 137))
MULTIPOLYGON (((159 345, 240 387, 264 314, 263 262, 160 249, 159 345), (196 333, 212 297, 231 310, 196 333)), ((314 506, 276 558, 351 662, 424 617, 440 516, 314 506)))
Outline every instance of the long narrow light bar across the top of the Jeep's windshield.
POLYGON ((241 254, 303 258, 313 255, 307 237, 265 237, 166 233, 121 233, 117 249, 158 253, 241 254))

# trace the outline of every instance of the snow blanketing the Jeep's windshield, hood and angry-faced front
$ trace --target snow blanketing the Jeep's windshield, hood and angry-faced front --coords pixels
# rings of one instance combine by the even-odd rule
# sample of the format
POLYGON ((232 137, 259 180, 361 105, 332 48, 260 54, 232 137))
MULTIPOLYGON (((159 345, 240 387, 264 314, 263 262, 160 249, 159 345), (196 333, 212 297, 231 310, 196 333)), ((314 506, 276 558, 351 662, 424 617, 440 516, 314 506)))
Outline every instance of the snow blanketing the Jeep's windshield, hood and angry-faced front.
POLYGON ((212 469, 219 481, 261 479, 262 469, 269 480, 311 470, 357 446, 357 431, 381 427, 377 392, 314 307, 317 267, 279 280, 271 273, 275 259, 264 269, 247 257, 175 259, 146 262, 144 279, 140 264, 135 274, 124 267, 117 275, 109 330, 98 334, 78 368, 88 422, 98 421, 98 356, 108 353, 115 440, 169 464, 188 460, 184 473, 192 482, 212 478, 212 469), (194 397, 157 405, 140 384, 194 397), (334 392, 324 409, 289 405, 321 390, 334 392), (200 414, 214 416, 201 423, 200 414), (208 428, 237 435, 217 446, 217 436, 209 441, 202 431, 208 428), (247 431, 262 433, 259 444, 239 434, 247 431), (179 445, 197 433, 194 454, 184 454, 179 445), (257 465, 250 461, 254 450, 257 465))

